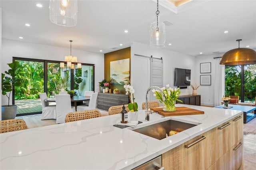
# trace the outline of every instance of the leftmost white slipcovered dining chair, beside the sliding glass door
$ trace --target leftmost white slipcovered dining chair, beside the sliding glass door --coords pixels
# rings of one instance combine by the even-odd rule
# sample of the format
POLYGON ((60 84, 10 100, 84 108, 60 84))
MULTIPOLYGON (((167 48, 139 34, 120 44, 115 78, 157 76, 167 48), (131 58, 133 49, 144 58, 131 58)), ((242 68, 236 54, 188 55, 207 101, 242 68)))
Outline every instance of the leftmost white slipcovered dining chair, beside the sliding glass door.
POLYGON ((56 119, 56 106, 49 106, 49 102, 45 101, 47 99, 46 93, 39 94, 41 104, 42 104, 42 117, 44 119, 56 119))

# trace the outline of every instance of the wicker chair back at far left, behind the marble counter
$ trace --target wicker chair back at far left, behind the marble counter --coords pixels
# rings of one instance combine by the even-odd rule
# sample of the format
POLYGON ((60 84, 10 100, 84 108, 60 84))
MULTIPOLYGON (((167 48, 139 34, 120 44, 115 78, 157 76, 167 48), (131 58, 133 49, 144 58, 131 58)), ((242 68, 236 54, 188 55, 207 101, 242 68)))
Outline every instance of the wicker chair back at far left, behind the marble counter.
POLYGON ((25 121, 22 119, 8 119, 1 121, 0 133, 24 130, 27 128, 25 121))

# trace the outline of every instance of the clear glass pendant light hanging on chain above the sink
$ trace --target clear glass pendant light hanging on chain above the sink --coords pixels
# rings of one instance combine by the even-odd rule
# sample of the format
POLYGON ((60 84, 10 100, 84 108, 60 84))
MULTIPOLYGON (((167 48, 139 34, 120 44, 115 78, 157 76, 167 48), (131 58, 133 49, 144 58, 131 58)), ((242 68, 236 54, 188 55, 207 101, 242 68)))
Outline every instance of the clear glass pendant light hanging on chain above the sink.
POLYGON ((165 24, 159 21, 159 10, 157 0, 156 21, 150 25, 150 47, 163 48, 165 47, 165 24))

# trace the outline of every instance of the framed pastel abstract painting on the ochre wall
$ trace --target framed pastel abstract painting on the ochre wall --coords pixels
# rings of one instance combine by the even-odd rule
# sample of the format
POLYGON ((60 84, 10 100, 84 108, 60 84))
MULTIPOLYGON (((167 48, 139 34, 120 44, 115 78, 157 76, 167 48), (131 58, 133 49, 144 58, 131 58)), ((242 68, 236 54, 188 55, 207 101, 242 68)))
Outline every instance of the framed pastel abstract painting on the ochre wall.
POLYGON ((110 61, 110 83, 112 85, 130 84, 130 59, 110 61))

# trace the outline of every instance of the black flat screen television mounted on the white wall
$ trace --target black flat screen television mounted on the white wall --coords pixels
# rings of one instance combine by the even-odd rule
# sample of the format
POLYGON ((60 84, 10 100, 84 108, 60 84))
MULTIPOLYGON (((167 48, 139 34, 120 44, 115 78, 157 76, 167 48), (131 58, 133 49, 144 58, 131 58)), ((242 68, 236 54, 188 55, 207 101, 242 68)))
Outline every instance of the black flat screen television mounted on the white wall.
POLYGON ((190 69, 175 68, 174 86, 190 86, 190 69))

